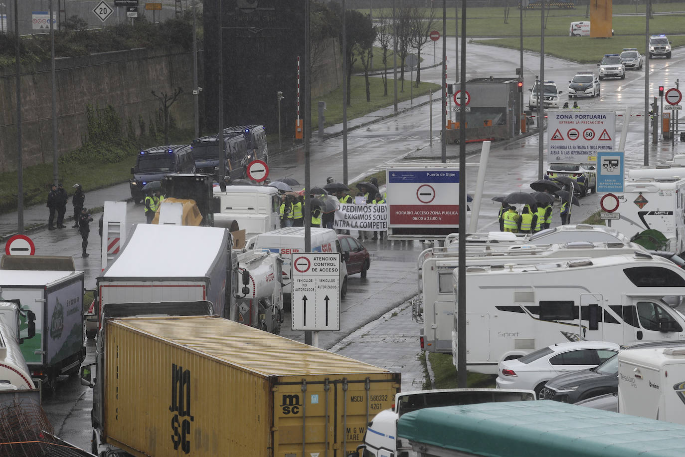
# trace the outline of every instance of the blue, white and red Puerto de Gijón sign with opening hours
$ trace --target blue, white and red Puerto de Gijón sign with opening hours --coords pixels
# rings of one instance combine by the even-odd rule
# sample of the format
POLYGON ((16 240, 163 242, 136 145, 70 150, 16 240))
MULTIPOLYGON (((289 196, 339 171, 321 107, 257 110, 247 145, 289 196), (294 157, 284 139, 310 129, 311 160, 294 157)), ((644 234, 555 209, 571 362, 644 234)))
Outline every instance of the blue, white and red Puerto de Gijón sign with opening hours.
POLYGON ((459 175, 456 166, 388 169, 389 226, 458 227, 459 175))

